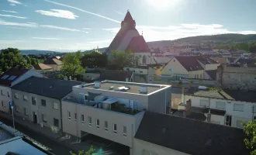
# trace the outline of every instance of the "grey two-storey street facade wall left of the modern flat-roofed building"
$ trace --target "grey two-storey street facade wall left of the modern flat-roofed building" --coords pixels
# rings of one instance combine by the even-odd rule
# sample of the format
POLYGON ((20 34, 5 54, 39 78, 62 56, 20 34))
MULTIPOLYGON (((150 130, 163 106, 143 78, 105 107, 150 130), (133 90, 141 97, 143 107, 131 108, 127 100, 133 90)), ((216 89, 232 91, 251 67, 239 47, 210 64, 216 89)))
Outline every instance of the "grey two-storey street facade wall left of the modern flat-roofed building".
POLYGON ((20 112, 16 112, 16 107, 14 109, 15 115, 25 118, 33 122, 33 112, 36 112, 37 123, 43 123, 43 126, 53 127, 54 119, 59 120, 59 127, 57 130, 61 129, 61 102, 55 98, 48 98, 41 95, 35 95, 24 91, 17 91, 12 89, 13 102, 15 106, 19 106, 20 112), (18 93, 19 99, 14 98, 15 93, 18 93), (23 95, 26 95, 28 101, 23 100, 23 95), (32 105, 32 97, 36 98, 36 105, 32 105), (46 100, 46 107, 41 105, 41 100, 46 100), (54 103, 57 103, 58 109, 54 109, 54 103), (24 114, 24 108, 28 115, 24 114), (43 122, 42 114, 47 119, 47 122, 43 122))

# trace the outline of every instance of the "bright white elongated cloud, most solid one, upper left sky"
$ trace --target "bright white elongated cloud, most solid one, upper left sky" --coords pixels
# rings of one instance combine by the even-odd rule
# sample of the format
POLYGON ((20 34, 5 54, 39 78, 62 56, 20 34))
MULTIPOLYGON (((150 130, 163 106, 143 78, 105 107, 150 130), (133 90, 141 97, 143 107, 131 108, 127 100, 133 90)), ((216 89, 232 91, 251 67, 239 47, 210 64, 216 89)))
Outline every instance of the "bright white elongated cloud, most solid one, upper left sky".
POLYGON ((79 17, 78 15, 74 15, 73 12, 60 9, 50 9, 50 11, 36 10, 35 12, 38 12, 41 15, 54 16, 64 19, 76 19, 77 17, 79 17))

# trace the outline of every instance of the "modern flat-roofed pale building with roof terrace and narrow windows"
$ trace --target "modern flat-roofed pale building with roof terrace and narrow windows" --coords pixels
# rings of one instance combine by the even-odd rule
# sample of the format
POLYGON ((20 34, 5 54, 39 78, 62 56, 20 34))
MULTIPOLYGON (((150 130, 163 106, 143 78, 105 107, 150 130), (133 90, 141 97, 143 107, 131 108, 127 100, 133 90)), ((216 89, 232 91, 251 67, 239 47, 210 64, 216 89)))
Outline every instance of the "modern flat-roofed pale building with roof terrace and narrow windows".
POLYGON ((144 111, 166 113, 171 86, 119 81, 77 85, 62 100, 64 133, 87 133, 130 147, 144 111))

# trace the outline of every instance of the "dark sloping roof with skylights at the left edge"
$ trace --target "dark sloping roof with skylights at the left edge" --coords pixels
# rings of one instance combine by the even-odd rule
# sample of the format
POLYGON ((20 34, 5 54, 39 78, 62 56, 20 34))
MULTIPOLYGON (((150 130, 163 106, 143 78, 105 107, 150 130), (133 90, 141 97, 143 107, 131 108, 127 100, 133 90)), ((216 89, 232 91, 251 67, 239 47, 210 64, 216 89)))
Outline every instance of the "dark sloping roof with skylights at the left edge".
POLYGON ((17 78, 21 77, 22 74, 25 74, 29 69, 20 68, 20 67, 12 67, 8 71, 5 71, 4 74, 0 75, 0 85, 4 85, 10 87, 13 81, 16 81, 17 78), (9 75, 7 77, 7 75, 9 75), (13 78, 12 78, 13 76, 13 78), (5 79, 3 79, 6 77, 5 79))

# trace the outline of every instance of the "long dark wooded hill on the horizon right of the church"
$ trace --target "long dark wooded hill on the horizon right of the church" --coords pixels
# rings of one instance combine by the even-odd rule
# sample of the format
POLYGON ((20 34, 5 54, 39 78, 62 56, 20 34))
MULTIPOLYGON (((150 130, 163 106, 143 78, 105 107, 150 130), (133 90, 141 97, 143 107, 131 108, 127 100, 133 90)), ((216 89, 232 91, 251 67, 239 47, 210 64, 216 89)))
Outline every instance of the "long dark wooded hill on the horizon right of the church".
POLYGON ((236 42, 251 42, 256 40, 256 34, 220 34, 213 36, 191 36, 186 38, 181 38, 178 40, 161 40, 148 42, 149 47, 169 47, 173 45, 173 43, 214 43, 214 44, 232 44, 236 42))

